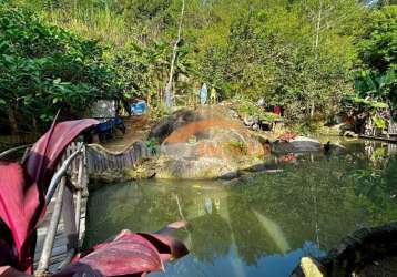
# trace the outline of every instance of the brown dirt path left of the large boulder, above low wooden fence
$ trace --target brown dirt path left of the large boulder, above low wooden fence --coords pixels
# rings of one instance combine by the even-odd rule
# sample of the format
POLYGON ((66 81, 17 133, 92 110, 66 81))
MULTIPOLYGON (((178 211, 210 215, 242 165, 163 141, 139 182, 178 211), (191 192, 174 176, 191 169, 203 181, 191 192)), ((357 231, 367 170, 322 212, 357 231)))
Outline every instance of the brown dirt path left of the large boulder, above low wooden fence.
POLYGON ((125 134, 118 133, 114 138, 102 143, 104 147, 110 151, 122 151, 135 141, 144 141, 153 124, 147 115, 125 117, 124 123, 125 134))

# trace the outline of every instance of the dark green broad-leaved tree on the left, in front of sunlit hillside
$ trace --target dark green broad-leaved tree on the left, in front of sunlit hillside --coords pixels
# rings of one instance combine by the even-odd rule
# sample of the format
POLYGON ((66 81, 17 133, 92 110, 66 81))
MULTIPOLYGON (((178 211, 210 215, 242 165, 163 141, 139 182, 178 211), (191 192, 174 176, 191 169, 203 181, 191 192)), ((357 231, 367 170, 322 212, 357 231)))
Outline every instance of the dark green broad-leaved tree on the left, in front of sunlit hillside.
POLYGON ((114 74, 98 42, 43 23, 26 10, 0 6, 0 114, 13 133, 40 131, 58 109, 82 115, 114 98, 114 74))

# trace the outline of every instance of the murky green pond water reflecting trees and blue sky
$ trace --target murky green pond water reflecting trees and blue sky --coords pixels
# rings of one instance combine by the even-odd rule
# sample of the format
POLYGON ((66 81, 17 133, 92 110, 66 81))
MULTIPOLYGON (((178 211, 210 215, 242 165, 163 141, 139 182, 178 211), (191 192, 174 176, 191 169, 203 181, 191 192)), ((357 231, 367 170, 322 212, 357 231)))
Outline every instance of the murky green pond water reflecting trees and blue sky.
POLYGON ((346 151, 266 160, 279 173, 234 181, 142 181, 90 194, 85 247, 128 228, 174 235, 191 254, 150 276, 289 276, 364 226, 397 219, 397 145, 340 142, 346 151))

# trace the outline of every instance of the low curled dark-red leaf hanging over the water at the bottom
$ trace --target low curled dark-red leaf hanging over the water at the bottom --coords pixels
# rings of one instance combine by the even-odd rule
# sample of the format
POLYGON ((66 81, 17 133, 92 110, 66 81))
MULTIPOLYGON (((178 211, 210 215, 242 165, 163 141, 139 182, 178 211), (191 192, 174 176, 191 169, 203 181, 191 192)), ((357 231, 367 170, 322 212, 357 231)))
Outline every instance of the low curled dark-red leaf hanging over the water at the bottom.
POLYGON ((73 265, 55 276, 141 276, 164 270, 163 261, 187 253, 182 243, 170 236, 123 230, 77 257, 73 265))

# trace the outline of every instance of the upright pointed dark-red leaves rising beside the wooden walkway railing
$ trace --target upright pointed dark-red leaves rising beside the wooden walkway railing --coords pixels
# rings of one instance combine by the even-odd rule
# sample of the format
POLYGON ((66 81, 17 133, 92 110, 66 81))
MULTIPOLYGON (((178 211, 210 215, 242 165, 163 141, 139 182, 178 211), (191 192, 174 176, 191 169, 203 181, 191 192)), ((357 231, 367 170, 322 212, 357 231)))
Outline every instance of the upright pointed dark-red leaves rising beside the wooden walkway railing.
POLYGON ((83 130, 98 124, 95 120, 68 121, 53 124, 33 145, 23 167, 0 164, 0 217, 11 230, 18 255, 18 269, 31 270, 31 235, 45 208, 44 194, 63 151, 83 130))

